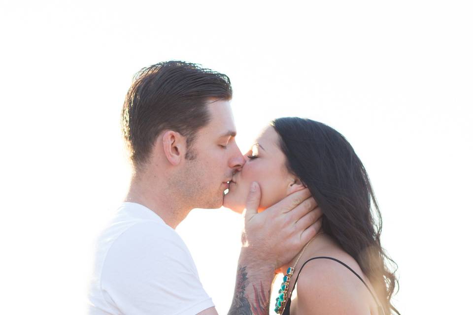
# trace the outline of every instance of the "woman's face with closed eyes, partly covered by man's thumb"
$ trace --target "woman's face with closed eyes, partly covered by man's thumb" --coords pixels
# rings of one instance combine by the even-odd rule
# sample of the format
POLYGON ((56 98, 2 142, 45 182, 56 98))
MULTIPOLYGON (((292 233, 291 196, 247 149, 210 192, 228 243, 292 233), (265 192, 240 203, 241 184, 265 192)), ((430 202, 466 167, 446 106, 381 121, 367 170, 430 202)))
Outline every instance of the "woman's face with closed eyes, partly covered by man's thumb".
POLYGON ((279 135, 274 127, 268 126, 263 130, 246 153, 245 159, 241 171, 233 176, 229 192, 223 200, 224 207, 242 212, 252 182, 257 182, 261 189, 259 211, 277 203, 296 189, 293 187, 296 177, 287 170, 286 157, 279 148, 279 135))

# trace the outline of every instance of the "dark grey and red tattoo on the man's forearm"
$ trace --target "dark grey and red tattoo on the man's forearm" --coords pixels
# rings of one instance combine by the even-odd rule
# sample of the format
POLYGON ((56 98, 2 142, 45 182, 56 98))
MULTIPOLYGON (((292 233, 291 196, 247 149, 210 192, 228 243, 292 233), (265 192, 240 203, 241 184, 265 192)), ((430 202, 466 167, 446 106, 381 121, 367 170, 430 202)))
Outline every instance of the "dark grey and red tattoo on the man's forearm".
MULTIPOLYGON (((228 315, 267 315, 269 310, 269 302, 263 283, 260 281, 260 288, 258 289, 253 284, 254 301, 250 304, 248 301, 248 294, 245 292, 248 286, 248 274, 246 267, 238 267, 236 274, 235 295, 233 297, 232 306, 228 315)), ((268 292, 269 296, 269 292, 268 292)))

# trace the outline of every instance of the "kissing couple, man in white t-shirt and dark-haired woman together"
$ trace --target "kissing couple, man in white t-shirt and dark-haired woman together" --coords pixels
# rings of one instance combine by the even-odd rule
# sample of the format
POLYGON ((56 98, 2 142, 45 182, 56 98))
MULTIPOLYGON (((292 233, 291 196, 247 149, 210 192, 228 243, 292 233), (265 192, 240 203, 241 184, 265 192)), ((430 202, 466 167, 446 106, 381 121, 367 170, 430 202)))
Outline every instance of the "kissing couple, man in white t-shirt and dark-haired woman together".
POLYGON ((217 315, 175 228, 194 208, 222 205, 245 222, 228 314, 399 314, 380 212, 351 145, 288 117, 242 154, 231 99, 228 76, 197 64, 136 74, 122 110, 133 176, 97 239, 89 314, 217 315))

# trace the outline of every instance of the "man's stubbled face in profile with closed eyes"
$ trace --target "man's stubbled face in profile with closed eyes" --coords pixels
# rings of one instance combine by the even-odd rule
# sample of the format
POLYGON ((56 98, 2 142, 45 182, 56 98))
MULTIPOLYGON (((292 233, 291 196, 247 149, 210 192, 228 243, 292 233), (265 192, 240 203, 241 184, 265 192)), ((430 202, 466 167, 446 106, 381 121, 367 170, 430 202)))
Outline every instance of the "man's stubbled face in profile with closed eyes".
POLYGON ((193 201, 193 208, 220 208, 227 182, 245 163, 235 142, 230 101, 218 100, 207 106, 210 122, 197 132, 191 146, 195 158, 185 160, 182 174, 186 187, 183 193, 193 201))

